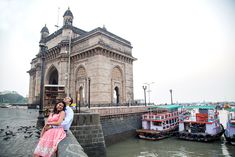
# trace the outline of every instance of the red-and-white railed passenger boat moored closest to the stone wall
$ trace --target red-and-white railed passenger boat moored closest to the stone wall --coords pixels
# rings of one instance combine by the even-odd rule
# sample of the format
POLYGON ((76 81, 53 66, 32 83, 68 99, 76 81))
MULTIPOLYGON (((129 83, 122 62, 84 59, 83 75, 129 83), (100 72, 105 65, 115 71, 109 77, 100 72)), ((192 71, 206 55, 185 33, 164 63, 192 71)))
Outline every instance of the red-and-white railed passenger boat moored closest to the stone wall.
POLYGON ((178 130, 179 105, 155 105, 142 115, 142 129, 136 133, 140 139, 160 140, 172 136, 178 130))

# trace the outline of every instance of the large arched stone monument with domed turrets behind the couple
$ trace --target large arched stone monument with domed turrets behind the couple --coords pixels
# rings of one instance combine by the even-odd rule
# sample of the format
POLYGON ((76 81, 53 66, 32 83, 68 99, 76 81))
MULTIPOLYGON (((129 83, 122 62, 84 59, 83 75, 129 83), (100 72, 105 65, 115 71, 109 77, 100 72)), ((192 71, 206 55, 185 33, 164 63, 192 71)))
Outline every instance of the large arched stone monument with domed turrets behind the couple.
MULTIPOLYGON (((73 18, 68 8, 63 15, 62 28, 51 34, 46 25, 42 28, 40 49, 28 71, 28 103, 39 102, 41 80, 44 92, 46 87, 58 87, 53 89, 57 92, 55 99, 59 90, 79 100, 81 106, 132 102, 136 58, 132 56, 131 43, 104 27, 88 32, 77 28, 73 26, 73 18)), ((44 101, 46 96, 50 94, 44 95, 44 101)))

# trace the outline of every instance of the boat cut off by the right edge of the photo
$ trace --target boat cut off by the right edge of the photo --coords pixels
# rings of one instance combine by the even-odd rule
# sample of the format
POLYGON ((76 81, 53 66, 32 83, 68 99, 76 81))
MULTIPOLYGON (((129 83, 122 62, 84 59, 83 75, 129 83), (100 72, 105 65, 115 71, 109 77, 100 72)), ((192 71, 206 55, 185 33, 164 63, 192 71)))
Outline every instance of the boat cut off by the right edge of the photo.
POLYGON ((228 121, 224 132, 226 141, 235 145, 235 108, 227 109, 228 121))

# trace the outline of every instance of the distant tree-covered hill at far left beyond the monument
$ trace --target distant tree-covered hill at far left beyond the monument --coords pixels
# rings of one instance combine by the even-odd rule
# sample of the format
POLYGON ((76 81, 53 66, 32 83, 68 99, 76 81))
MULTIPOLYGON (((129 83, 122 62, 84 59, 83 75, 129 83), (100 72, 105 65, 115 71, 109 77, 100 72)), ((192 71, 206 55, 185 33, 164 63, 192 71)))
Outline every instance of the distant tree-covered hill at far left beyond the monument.
POLYGON ((24 104, 27 103, 27 98, 15 91, 4 91, 0 92, 0 103, 24 104))

